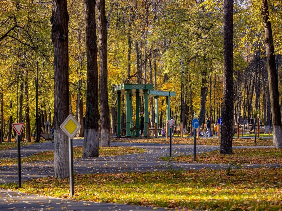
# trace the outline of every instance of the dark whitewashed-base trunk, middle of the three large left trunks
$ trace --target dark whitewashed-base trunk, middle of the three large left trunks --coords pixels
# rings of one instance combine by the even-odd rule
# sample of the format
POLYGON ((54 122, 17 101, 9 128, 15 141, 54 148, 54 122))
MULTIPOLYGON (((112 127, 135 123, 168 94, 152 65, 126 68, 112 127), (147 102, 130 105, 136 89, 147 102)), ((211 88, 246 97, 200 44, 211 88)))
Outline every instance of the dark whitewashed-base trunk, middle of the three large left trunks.
POLYGON ((99 156, 99 87, 95 4, 96 0, 85 0, 87 96, 82 157, 99 156))

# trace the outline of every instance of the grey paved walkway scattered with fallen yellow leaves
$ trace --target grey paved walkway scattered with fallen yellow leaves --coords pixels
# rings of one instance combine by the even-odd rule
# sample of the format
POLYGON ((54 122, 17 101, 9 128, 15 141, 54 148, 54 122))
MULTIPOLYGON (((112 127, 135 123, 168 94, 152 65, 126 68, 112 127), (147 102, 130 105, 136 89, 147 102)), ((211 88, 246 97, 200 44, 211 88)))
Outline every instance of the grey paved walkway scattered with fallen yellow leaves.
MULTIPOLYGON (((159 160, 160 156, 169 155, 169 144, 144 144, 144 143, 124 143, 124 142, 111 142, 113 146, 133 146, 141 147, 147 151, 140 154, 130 154, 130 155, 120 155, 112 157, 98 157, 98 158, 79 158, 75 159, 73 162, 75 173, 120 173, 127 171, 142 172, 142 171, 164 171, 173 169, 224 169, 228 168, 227 164, 200 164, 200 163, 180 163, 180 162, 170 162, 168 165, 167 161, 159 160)), ((73 140, 73 146, 82 146, 83 140, 77 139, 73 140)), ((269 146, 268 146, 269 147, 269 146)), ((215 149, 220 149, 219 146, 200 146, 197 145, 197 154, 203 152, 209 152, 215 149)), ((242 148, 242 147, 234 147, 242 148)), ((245 147, 245 148, 260 148, 260 147, 245 147)), ((43 142, 38 144, 26 145, 21 147, 22 157, 27 157, 36 152, 44 152, 48 150, 53 150, 53 144, 51 142, 43 142)), ((192 145, 172 145, 173 156, 176 155, 191 155, 193 154, 192 145)), ((9 149, 0 151, 0 159, 8 157, 17 157, 17 149, 9 149)), ((197 157, 196 157, 197 160, 197 157)), ((46 177, 54 175, 54 162, 53 161, 36 161, 26 164, 21 164, 22 166, 22 181, 30 180, 32 178, 46 177)), ((245 167, 256 168, 260 166, 276 166, 281 167, 281 164, 272 165, 244 165, 245 167)), ((0 183, 11 183, 18 182, 18 169, 17 164, 12 166, 0 166, 0 183)), ((6 190, 0 189, 0 210, 5 210, 6 208, 14 207, 14 210, 21 210, 23 203, 31 203, 34 207, 33 210, 44 210, 48 207, 67 207, 70 205, 70 200, 61 199, 48 199, 38 198, 34 195, 25 195, 23 193, 13 193, 11 191, 6 192, 6 190), (1 198, 2 195, 2 198, 1 198), (22 198, 22 195, 24 195, 22 198), (37 198, 37 199, 34 199, 37 198), (49 201, 51 200, 51 201, 49 201), (58 202, 59 201, 59 202, 58 202), (38 204, 38 203, 39 204, 38 204), (57 203, 60 203, 57 205, 57 203), (48 204, 48 205, 47 205, 48 204), (43 206, 38 206, 43 205, 43 206), (2 207, 2 208, 1 208, 2 207)), ((24 206, 27 207, 25 210, 30 210, 29 205, 26 203, 24 206)), ((95 205, 95 209, 91 206, 85 206, 84 204, 88 202, 71 202, 70 210, 152 210, 152 207, 130 207, 128 205, 114 205, 107 203, 100 203, 95 205), (83 208, 81 208, 83 207, 83 208), (97 208, 97 209, 96 209, 97 208)), ((161 208, 157 208, 162 210, 161 208)), ((56 210, 56 208, 55 208, 56 210)), ((59 208, 57 208, 59 210, 59 208)))

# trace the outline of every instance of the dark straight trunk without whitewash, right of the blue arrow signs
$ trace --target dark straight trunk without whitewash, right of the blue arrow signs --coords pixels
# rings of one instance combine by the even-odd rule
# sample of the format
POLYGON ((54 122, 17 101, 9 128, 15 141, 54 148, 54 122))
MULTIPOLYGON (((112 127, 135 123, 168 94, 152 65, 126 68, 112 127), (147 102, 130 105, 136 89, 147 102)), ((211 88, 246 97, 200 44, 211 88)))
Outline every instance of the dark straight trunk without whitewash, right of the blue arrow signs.
POLYGON ((223 107, 221 154, 232 154, 233 116, 233 0, 224 0, 224 68, 223 68, 223 107))

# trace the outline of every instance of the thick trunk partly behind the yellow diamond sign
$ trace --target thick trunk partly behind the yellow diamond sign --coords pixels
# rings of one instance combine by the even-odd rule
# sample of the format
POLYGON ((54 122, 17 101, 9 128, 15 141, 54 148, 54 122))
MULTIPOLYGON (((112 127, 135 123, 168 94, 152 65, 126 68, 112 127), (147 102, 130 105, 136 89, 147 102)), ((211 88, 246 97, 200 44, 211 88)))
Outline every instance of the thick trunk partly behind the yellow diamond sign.
POLYGON ((55 177, 69 176, 68 137, 60 125, 69 115, 68 11, 66 0, 53 0, 51 16, 54 51, 54 163, 55 177))

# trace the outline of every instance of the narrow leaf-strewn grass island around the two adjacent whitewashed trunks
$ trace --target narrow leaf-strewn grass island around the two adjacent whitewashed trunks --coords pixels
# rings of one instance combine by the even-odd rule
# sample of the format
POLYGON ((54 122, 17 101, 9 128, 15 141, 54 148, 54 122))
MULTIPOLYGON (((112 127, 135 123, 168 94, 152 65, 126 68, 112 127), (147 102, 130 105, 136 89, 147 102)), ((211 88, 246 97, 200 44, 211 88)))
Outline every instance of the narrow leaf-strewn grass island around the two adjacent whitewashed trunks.
MULTIPOLYGON (((83 152, 83 147, 73 148, 73 158, 81 158, 83 152)), ((134 154, 145 152, 142 148, 137 147, 100 147, 99 156, 117 156, 124 154, 134 154)), ((33 161, 50 161, 54 159, 54 151, 39 152, 33 154, 27 158, 21 158, 21 163, 33 162, 33 161)), ((0 159, 0 166, 17 164, 17 158, 11 159, 0 159)))

